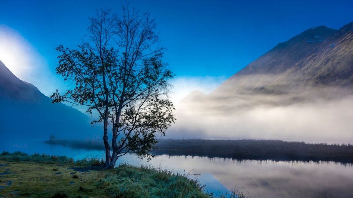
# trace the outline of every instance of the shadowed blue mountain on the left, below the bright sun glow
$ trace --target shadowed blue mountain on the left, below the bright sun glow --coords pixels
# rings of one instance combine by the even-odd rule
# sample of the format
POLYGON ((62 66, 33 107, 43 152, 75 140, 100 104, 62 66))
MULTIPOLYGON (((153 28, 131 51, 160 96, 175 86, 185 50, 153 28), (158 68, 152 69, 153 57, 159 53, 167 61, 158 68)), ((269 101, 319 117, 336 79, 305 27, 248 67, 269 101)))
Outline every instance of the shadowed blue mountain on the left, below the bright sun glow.
POLYGON ((85 139, 99 136, 91 119, 65 104, 52 104, 34 85, 18 79, 0 61, 1 143, 33 138, 85 139))

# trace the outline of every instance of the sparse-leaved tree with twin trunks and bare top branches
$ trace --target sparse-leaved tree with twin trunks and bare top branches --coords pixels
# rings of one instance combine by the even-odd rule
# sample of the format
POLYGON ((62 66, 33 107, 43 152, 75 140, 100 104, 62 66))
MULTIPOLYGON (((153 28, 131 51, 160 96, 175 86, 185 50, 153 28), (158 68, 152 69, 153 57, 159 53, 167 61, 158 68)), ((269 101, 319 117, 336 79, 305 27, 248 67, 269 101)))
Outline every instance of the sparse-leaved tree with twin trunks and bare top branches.
POLYGON ((162 62, 155 21, 149 13, 123 8, 121 17, 101 9, 90 23, 79 49, 56 48, 61 52, 56 73, 74 87, 64 94, 56 90, 53 103, 86 106, 91 116, 98 115, 92 123, 103 123, 106 168, 127 153, 150 159, 156 135, 165 135, 175 121, 168 83, 174 74, 162 62))

